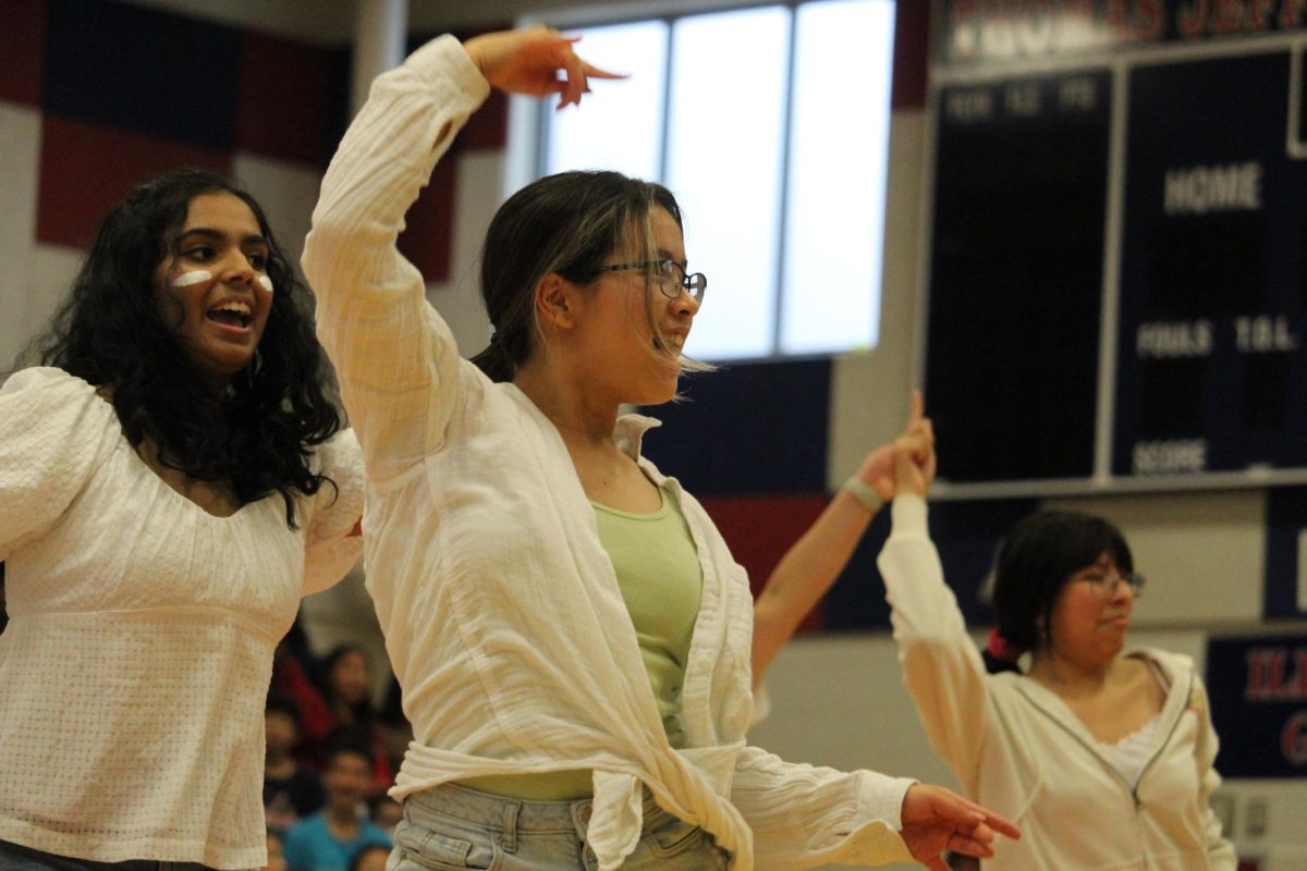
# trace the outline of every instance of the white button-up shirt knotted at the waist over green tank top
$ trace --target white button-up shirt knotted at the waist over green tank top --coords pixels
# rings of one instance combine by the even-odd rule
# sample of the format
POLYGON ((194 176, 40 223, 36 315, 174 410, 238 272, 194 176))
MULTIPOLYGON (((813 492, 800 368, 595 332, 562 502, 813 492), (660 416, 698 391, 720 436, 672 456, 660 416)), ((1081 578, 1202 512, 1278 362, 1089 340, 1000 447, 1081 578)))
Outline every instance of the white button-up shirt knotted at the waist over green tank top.
POLYGON ((558 430, 512 384, 459 358, 395 248, 404 213, 489 94, 452 37, 372 84, 323 180, 303 266, 367 467, 367 585, 416 740, 392 794, 488 774, 593 770, 589 842, 621 864, 642 784, 738 871, 908 861, 911 781, 789 764, 748 747, 753 599, 707 513, 672 488, 703 569, 667 739, 595 512, 558 430))

